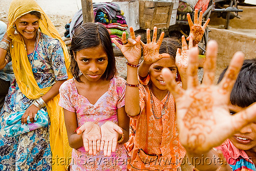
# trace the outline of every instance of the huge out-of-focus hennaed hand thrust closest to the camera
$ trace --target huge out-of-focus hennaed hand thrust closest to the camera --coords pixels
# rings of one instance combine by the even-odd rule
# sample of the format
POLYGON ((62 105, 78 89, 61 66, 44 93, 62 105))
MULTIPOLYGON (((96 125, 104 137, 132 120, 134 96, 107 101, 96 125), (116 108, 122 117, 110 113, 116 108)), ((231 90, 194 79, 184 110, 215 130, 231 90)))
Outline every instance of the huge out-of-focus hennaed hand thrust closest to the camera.
POLYGON ((243 65, 244 55, 234 54, 222 81, 215 86, 217 42, 207 44, 203 83, 197 78, 198 49, 189 52, 187 89, 179 88, 168 69, 162 75, 175 98, 179 138, 190 154, 207 153, 256 119, 256 103, 236 115, 228 109, 230 92, 243 65))

